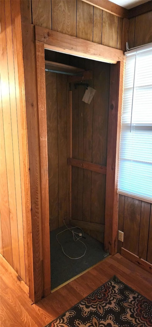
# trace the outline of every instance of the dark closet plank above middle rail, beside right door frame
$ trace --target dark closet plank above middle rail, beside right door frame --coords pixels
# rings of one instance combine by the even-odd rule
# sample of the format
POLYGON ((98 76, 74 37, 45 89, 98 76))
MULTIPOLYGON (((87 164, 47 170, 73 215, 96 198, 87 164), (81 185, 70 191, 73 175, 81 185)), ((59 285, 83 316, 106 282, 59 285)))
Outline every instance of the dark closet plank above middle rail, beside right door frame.
POLYGON ((110 64, 94 61, 92 162, 106 166, 110 64))

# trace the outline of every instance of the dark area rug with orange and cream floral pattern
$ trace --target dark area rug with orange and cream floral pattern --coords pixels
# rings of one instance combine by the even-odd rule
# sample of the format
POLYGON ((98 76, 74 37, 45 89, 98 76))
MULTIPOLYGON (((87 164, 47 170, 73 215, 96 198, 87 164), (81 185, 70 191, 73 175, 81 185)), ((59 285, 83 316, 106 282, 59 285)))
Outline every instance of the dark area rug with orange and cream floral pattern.
POLYGON ((152 327, 152 302, 116 276, 46 327, 152 327))

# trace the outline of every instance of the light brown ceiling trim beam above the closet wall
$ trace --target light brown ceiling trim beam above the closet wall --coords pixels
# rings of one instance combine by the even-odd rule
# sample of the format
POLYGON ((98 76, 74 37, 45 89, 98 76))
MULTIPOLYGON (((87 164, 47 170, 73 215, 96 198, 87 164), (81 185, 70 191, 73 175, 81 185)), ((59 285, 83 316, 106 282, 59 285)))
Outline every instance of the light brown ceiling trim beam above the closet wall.
POLYGON ((108 11, 115 16, 128 18, 128 10, 126 8, 116 5, 115 3, 109 0, 82 0, 82 1, 89 3, 94 7, 103 9, 104 11, 108 11))

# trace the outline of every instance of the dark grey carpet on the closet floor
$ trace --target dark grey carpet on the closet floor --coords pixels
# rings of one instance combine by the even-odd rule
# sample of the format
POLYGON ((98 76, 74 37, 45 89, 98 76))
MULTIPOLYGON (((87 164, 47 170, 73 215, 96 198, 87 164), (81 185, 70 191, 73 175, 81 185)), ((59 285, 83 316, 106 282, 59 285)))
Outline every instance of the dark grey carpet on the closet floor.
MULTIPOLYGON (((69 225, 68 225, 69 227, 69 225)), ((71 226, 70 226, 71 227, 71 226)), ((60 244, 56 240, 56 234, 64 230, 66 227, 58 228, 50 232, 50 251, 51 251, 51 289, 65 283, 69 279, 75 277, 86 269, 103 260, 106 255, 104 245, 93 237, 84 233, 85 239, 82 238, 87 246, 86 254, 77 260, 69 259, 62 252, 60 244)), ((81 232, 80 229, 76 230, 81 232)), ((85 246, 79 241, 74 242, 73 234, 70 231, 65 231, 58 235, 58 240, 62 244, 63 250, 71 257, 80 257, 85 246)))

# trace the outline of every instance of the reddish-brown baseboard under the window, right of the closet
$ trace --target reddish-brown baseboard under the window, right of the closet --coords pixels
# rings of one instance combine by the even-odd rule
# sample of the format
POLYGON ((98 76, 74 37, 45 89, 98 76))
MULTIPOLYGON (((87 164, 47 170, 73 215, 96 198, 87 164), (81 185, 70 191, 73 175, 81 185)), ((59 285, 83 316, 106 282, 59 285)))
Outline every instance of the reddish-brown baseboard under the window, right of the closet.
POLYGON ((137 255, 124 248, 121 248, 121 255, 152 274, 152 265, 149 262, 139 258, 137 255))

